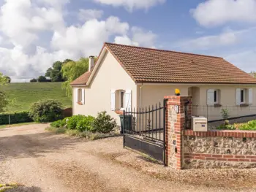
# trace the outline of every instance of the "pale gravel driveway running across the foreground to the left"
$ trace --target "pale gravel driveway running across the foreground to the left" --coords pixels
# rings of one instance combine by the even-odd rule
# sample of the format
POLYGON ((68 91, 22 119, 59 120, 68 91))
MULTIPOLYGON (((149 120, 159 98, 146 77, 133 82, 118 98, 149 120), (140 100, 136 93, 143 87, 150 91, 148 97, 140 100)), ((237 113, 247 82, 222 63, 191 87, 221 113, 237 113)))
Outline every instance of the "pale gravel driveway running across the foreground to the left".
POLYGON ((122 138, 86 141, 35 124, 0 129, 0 183, 10 191, 256 191, 255 169, 176 171, 122 147, 122 138))

